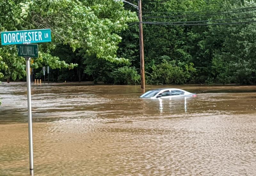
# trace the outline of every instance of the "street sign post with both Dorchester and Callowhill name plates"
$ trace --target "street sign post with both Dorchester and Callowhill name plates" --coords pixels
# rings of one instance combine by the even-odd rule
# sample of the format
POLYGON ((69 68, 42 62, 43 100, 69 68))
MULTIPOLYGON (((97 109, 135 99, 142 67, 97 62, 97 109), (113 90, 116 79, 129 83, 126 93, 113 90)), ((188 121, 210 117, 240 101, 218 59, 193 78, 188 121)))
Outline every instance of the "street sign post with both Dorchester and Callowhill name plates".
MULTIPOLYGON (((32 110, 31 110, 31 86, 30 86, 30 59, 31 57, 38 57, 38 46, 37 44, 32 45, 32 43, 51 42, 51 41, 52 41, 51 29, 33 29, 33 30, 1 32, 1 44, 2 45, 17 44, 18 56, 24 56, 26 59, 27 97, 28 97, 29 174, 32 176, 34 175, 34 164, 33 164, 34 161, 33 161, 33 137, 32 137, 33 132, 32 132, 32 110)), ((45 84, 45 67, 43 67, 43 71, 44 71, 44 84, 45 84)), ((33 72, 33 69, 32 69, 32 72, 33 72)), ((49 77, 48 77, 48 80, 49 80, 49 77)), ((41 83, 41 80, 40 80, 40 83, 41 83)))

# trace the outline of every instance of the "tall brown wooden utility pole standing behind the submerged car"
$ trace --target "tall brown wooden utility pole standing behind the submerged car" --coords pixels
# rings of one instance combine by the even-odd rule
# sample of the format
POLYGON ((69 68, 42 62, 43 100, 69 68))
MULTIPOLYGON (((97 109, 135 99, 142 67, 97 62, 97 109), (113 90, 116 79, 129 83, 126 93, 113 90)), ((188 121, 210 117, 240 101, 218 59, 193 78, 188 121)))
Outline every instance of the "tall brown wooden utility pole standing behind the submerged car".
POLYGON ((142 11, 141 11, 141 0, 138 0, 139 10, 139 29, 140 29, 140 81, 141 89, 145 90, 145 71, 144 71, 144 46, 143 46, 143 29, 142 29, 142 11))

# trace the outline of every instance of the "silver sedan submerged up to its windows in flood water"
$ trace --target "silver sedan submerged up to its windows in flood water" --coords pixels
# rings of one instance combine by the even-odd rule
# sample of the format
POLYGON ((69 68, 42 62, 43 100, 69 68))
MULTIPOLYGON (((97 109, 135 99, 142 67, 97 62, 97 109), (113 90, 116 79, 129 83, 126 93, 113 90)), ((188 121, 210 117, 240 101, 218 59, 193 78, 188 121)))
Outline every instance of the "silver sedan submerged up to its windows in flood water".
POLYGON ((154 89, 148 91, 140 96, 140 98, 172 98, 172 97, 196 97, 195 93, 190 93, 184 91, 182 89, 175 89, 175 88, 164 88, 164 89, 154 89))

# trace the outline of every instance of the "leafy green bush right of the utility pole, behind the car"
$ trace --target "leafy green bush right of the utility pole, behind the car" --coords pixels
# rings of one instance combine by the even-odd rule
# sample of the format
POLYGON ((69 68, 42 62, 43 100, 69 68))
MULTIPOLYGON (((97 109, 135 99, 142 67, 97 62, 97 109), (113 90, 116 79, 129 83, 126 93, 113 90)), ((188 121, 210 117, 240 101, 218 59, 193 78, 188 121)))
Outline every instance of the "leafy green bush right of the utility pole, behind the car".
POLYGON ((152 66, 152 73, 148 76, 149 84, 185 84, 192 79, 196 69, 193 63, 176 63, 175 60, 152 66))

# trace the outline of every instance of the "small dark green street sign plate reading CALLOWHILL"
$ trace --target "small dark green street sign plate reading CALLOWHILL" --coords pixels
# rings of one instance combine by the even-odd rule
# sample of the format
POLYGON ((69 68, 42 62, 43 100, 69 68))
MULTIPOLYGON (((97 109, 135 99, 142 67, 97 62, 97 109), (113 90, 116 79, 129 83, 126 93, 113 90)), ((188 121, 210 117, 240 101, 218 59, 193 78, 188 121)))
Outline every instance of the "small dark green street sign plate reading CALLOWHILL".
POLYGON ((18 56, 38 58, 37 44, 17 44, 18 56))

